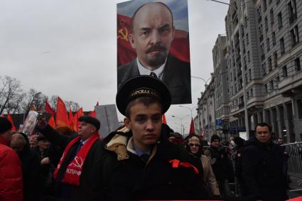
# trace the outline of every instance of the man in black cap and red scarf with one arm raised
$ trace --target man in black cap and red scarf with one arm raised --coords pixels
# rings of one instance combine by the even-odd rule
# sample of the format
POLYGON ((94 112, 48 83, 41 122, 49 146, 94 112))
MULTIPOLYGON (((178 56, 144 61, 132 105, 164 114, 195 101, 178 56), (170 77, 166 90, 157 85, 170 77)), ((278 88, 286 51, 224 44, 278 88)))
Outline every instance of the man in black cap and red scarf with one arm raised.
POLYGON ((92 116, 81 116, 78 133, 74 136, 58 134, 44 118, 39 119, 39 131, 51 143, 64 150, 55 178, 55 197, 63 200, 90 200, 95 193, 92 186, 99 183, 95 174, 99 170, 97 158, 102 155, 99 139, 99 120, 92 116))

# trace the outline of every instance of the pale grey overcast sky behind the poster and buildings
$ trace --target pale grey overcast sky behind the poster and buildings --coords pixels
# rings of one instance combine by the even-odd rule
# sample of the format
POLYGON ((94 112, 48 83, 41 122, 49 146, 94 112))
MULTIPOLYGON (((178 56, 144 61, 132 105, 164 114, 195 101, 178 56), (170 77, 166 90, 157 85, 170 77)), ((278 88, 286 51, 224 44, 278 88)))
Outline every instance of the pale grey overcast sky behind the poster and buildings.
MULTIPOLYGON (((77 102, 85 111, 97 101, 114 104, 120 2, 1 0, 0 75, 20 80, 25 90, 77 102)), ((191 75, 207 80, 213 72, 212 48, 218 34, 225 34, 227 9, 212 1, 188 0, 191 75)), ((193 108, 205 82, 195 78, 191 82, 193 104, 183 106, 193 108)), ((180 132, 180 120, 171 116, 188 114, 189 109, 171 106, 166 113, 168 125, 180 132)), ((188 133, 189 116, 183 125, 188 133)))

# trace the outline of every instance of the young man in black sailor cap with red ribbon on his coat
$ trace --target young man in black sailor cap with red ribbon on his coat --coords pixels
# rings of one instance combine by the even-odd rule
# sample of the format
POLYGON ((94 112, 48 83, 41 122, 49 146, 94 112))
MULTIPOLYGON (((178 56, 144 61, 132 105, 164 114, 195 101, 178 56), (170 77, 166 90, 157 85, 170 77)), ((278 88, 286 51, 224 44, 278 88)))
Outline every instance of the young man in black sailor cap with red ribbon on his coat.
POLYGON ((203 168, 187 151, 168 141, 161 115, 171 104, 166 85, 148 75, 119 88, 122 128, 104 138, 99 200, 202 200, 203 168))

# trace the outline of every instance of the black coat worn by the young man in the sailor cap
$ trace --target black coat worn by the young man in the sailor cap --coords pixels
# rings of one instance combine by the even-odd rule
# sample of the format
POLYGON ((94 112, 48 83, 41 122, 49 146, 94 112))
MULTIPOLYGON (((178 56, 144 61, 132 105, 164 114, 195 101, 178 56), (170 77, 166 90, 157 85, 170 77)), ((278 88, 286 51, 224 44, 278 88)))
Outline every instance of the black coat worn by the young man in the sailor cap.
MULTIPOLYGON (((105 146, 105 156, 102 158, 102 192, 99 200, 203 200, 205 188, 203 185, 203 168, 199 158, 195 158, 187 151, 168 141, 170 129, 163 125, 160 143, 156 144, 157 151, 148 163, 139 158, 136 153, 126 151, 126 146, 119 146, 117 150, 124 148, 129 158, 122 160, 123 154, 119 151, 110 151, 105 146), (107 149, 106 149, 107 148, 107 149), (198 169, 179 166, 172 168, 169 161, 177 159, 180 162, 190 163, 198 169)), ((104 138, 107 144, 117 134, 126 139, 132 136, 131 131, 125 133, 115 131, 104 138)), ((97 200, 97 199, 96 199, 97 200)))

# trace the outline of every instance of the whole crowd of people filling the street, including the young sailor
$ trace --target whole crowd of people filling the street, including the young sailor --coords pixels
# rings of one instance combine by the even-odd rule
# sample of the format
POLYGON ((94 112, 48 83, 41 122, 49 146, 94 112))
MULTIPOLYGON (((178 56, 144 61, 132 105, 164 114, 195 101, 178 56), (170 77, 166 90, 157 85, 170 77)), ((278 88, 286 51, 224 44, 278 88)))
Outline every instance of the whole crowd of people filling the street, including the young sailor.
POLYGON ((170 103, 157 78, 131 78, 117 92, 124 126, 102 140, 92 116, 80 117, 77 134, 41 117, 29 137, 0 117, 0 200, 287 199, 286 154, 268 124, 248 141, 222 146, 212 135, 207 144, 161 123, 170 103))

